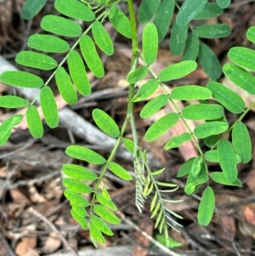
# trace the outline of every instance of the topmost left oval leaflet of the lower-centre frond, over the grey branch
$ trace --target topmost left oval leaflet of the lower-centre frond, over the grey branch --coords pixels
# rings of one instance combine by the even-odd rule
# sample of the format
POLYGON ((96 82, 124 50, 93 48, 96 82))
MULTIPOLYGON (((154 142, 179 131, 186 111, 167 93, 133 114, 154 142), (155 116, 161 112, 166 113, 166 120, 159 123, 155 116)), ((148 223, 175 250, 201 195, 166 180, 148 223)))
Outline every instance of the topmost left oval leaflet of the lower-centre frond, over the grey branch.
POLYGON ((108 134, 113 138, 117 138, 120 135, 120 130, 116 122, 106 114, 105 111, 94 109, 92 116, 94 122, 105 134, 108 134))

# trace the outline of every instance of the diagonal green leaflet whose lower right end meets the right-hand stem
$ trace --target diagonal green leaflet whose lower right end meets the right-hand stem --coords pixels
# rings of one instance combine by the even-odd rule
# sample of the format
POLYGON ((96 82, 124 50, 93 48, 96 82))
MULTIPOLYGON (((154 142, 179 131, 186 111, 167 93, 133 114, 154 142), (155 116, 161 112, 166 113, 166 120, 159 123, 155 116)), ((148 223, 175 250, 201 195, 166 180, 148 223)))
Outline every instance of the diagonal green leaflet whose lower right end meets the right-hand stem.
POLYGON ((212 97, 224 105, 227 110, 239 114, 245 109, 245 102, 241 96, 225 87, 222 83, 208 82, 207 88, 212 91, 212 97))

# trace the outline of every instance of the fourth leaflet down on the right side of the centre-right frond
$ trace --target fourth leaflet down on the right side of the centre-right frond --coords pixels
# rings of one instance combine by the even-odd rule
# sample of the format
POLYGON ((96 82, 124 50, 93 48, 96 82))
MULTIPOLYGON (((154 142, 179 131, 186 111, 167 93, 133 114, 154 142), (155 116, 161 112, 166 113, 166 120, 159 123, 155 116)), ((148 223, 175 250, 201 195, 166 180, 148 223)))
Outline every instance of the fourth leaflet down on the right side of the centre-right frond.
POLYGON ((194 129, 195 137, 204 139, 211 135, 222 134, 229 128, 227 122, 206 122, 202 123, 194 129))

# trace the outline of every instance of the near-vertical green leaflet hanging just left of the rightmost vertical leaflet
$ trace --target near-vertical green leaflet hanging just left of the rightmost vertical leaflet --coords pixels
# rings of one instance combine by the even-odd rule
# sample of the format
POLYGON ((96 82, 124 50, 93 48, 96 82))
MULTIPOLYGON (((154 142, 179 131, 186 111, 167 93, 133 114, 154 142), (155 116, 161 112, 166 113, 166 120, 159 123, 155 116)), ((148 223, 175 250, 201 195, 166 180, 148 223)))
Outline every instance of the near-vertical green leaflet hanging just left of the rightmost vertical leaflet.
POLYGON ((230 182, 234 182, 238 174, 235 162, 235 152, 227 139, 221 139, 218 142, 218 161, 224 172, 225 178, 230 182))

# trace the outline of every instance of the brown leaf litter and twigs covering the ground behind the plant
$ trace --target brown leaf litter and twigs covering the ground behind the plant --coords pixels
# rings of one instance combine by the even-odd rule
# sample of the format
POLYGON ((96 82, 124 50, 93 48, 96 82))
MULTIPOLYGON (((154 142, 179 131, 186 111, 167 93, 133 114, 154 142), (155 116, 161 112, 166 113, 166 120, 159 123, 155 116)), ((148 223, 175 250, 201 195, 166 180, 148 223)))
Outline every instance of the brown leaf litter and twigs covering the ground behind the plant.
MULTIPOLYGON (((37 17, 29 22, 20 19, 20 6, 23 0, 0 0, 0 73, 22 67, 14 63, 15 54, 26 49, 26 40, 29 35, 41 32, 40 20, 44 14, 53 12, 52 2, 42 10, 37 17), (14 3, 14 4, 12 4, 14 3)), ((219 19, 208 22, 225 22, 232 27, 233 32, 223 40, 210 40, 206 42, 218 55, 221 63, 227 59, 227 51, 230 47, 241 45, 254 48, 246 40, 246 30, 255 25, 254 1, 233 1, 230 8, 219 19)), ((83 25, 86 26, 86 25, 83 25)), ((81 230, 76 221, 71 218, 70 206, 63 196, 61 185, 62 174, 60 172, 63 163, 72 160, 65 156, 65 147, 71 144, 87 145, 108 156, 114 143, 113 139, 102 137, 103 135, 94 126, 91 111, 96 106, 111 114, 121 126, 126 114, 127 105, 127 72, 130 65, 129 42, 116 34, 111 25, 105 22, 105 28, 111 33, 116 45, 116 53, 111 57, 102 58, 105 62, 106 76, 98 80, 89 74, 93 85, 93 93, 88 98, 80 98, 77 105, 65 106, 65 103, 56 94, 59 102, 60 126, 49 130, 45 126, 45 136, 42 139, 31 139, 26 129, 26 123, 16 129, 8 143, 0 147, 0 255, 253 255, 255 239, 255 168, 253 161, 239 165, 239 177, 243 181, 243 188, 232 188, 224 185, 213 184, 216 191, 217 210, 208 227, 201 227, 196 222, 196 212, 200 193, 195 196, 184 194, 184 179, 176 179, 178 168, 184 162, 195 156, 194 146, 185 144, 178 151, 162 151, 169 136, 183 131, 181 124, 176 126, 171 133, 161 136, 153 143, 144 140, 144 132, 151 122, 170 111, 165 108, 149 120, 141 120, 139 111, 143 104, 135 106, 137 128, 140 134, 140 143, 150 151, 150 165, 153 168, 165 166, 166 172, 162 180, 177 183, 180 189, 169 195, 169 198, 183 199, 184 202, 168 205, 168 208, 182 215, 180 222, 184 225, 180 233, 169 230, 173 237, 172 251, 162 251, 159 247, 151 247, 151 237, 156 237, 157 230, 153 229, 154 220, 150 219, 149 204, 145 205, 144 213, 139 214, 134 203, 133 182, 124 182, 111 174, 105 176, 107 189, 111 191, 111 197, 119 208, 119 216, 122 225, 112 227, 115 236, 107 237, 105 245, 99 245, 94 250, 89 240, 88 231, 81 230), (131 221, 132 220, 132 221, 131 221), (142 235, 139 229, 147 235, 142 235), (175 242, 174 242, 175 241, 175 242), (237 253, 239 252, 239 254, 237 253)), ((142 31, 142 27, 140 29, 142 31)), ((169 31, 170 33, 170 31, 169 31)), ((169 38, 169 35, 167 36, 169 38)), ((69 41, 71 44, 71 40, 69 41)), ((160 51, 154 71, 176 63, 180 57, 169 53, 168 39, 160 45, 160 51)), ((61 60, 63 55, 55 55, 56 60, 61 60)), ((27 71, 28 69, 26 69, 27 71)), ((49 72, 36 71, 43 79, 47 79, 49 72)), ((148 77, 147 77, 148 78, 148 77)), ((235 87, 221 77, 221 82, 229 87, 235 87)), ((140 82, 141 85, 143 82, 140 82)), ((206 74, 198 68, 189 77, 169 84, 171 88, 183 84, 207 83, 206 74)), ((54 82, 50 84, 55 88, 54 82)), ((56 91, 56 90, 55 90, 56 91)), ((23 94, 27 99, 33 99, 29 90, 14 90, 0 83, 0 94, 23 94)), ((239 92, 239 94, 242 94, 239 92)), ((156 96, 156 94, 154 95, 156 96)), ((242 94, 249 105, 253 99, 242 94)), ((178 103, 183 107, 183 103, 178 103)), ((0 119, 4 120, 13 111, 0 109, 0 119)), ((227 113, 229 122, 235 122, 236 116, 227 113)), ((252 147, 254 147, 254 113, 251 111, 245 121, 249 128, 252 147)), ((190 122, 190 126, 196 123, 190 122)), ((131 135, 127 128, 126 137, 131 135)), ((203 145, 201 144, 203 147, 203 145)), ((124 151, 119 151, 116 156, 131 174, 133 174, 132 156, 124 151)), ((254 153, 253 157, 254 159, 254 153)), ((88 166, 95 169, 95 166, 88 166)), ((210 166, 217 169, 217 165, 210 166)), ((96 170, 99 172, 99 170, 96 170)), ((151 198, 149 198, 151 200, 151 198)), ((172 250, 172 249, 171 249, 172 250)))

